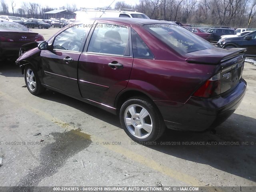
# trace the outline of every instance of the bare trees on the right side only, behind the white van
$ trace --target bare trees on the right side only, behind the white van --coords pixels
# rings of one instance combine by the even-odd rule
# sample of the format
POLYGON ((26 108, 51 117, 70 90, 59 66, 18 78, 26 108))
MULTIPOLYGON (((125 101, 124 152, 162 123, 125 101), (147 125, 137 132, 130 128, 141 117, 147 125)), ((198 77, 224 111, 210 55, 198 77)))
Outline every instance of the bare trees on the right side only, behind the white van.
POLYGON ((119 7, 136 9, 150 19, 256 28, 256 0, 140 0, 135 6, 117 2, 119 7))

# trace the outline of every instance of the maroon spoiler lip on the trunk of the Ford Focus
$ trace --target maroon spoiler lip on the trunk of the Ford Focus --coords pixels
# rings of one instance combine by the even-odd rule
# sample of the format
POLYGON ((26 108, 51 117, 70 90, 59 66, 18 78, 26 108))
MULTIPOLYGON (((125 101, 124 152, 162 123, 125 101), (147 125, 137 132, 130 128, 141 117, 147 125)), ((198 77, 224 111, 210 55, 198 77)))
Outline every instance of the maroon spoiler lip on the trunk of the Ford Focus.
POLYGON ((197 56, 189 56, 186 58, 186 62, 188 63, 198 63, 198 64, 219 64, 229 60, 235 56, 240 54, 244 54, 246 52, 246 48, 232 48, 235 49, 233 52, 226 55, 197 55, 197 56))

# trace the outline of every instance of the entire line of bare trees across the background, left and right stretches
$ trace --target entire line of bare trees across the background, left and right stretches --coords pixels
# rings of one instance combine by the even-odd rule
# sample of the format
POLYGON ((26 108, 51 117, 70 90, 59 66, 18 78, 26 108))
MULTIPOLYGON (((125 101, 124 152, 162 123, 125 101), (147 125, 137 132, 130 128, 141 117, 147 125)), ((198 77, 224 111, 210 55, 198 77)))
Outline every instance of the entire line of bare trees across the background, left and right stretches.
MULTIPOLYGON (((231 26, 256 28, 256 0, 140 0, 130 5, 116 2, 114 8, 135 9, 151 19, 177 21, 186 24, 206 24, 210 26, 231 26)), ((55 9, 78 10, 76 4, 53 8, 38 3, 22 2, 16 7, 11 0, 11 10, 5 0, 0 0, 0 14, 21 17, 43 18, 43 13, 55 9)))

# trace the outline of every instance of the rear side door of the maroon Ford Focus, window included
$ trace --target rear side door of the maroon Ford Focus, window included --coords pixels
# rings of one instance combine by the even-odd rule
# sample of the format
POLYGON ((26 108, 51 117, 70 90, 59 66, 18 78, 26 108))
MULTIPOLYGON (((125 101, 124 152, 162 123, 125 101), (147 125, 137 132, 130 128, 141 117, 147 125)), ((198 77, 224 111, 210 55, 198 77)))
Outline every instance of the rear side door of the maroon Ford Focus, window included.
POLYGON ((88 46, 80 56, 78 81, 83 98, 112 106, 110 100, 126 88, 132 70, 130 27, 101 22, 94 23, 88 46))

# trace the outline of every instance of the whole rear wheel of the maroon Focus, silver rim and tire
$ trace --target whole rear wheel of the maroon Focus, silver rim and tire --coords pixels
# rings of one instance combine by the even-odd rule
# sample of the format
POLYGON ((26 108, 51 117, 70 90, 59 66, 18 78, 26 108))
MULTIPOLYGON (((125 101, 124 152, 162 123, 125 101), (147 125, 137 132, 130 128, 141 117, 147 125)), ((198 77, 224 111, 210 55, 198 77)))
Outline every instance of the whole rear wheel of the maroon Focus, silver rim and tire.
POLYGON ((120 122, 126 134, 136 142, 154 141, 166 127, 152 101, 140 97, 124 102, 120 110, 120 122))

